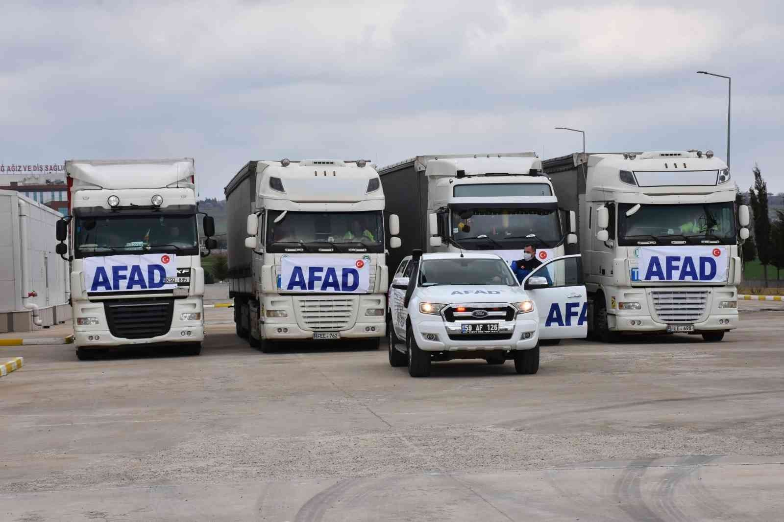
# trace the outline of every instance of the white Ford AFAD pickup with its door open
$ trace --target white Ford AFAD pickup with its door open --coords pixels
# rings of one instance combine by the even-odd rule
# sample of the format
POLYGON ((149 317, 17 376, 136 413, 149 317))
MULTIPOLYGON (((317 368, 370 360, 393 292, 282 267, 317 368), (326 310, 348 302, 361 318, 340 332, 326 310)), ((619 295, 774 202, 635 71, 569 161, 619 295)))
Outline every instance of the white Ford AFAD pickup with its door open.
POLYGON ((539 340, 586 337, 582 274, 579 255, 555 257, 518 284, 495 254, 414 250, 390 286, 390 365, 424 377, 433 361, 514 359, 517 373, 536 373, 539 340))

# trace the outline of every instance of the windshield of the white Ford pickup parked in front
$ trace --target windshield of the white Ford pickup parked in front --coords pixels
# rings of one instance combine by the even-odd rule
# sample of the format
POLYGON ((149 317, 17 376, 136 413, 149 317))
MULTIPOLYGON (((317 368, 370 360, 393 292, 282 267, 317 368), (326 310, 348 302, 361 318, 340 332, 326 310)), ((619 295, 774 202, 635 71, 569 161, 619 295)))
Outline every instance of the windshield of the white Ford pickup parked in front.
POLYGON ((518 286, 501 259, 427 259, 419 266, 419 286, 504 285, 518 286))

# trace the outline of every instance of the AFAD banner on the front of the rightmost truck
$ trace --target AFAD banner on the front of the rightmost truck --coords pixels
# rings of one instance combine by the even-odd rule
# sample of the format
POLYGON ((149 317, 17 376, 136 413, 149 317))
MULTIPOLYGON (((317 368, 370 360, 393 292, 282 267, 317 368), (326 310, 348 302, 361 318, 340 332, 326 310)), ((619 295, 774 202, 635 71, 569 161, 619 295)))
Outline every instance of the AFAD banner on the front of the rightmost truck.
POLYGON ((724 283, 728 253, 724 247, 641 247, 641 281, 724 283))

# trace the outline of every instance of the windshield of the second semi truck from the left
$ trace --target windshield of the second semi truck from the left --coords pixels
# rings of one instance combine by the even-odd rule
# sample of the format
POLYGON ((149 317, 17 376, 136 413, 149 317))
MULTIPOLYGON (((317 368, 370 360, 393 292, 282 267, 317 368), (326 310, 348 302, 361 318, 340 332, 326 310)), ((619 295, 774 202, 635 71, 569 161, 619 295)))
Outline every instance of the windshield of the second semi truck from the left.
POLYGON ((267 250, 314 253, 384 251, 382 211, 269 211, 267 250), (301 250, 300 250, 301 249, 301 250))

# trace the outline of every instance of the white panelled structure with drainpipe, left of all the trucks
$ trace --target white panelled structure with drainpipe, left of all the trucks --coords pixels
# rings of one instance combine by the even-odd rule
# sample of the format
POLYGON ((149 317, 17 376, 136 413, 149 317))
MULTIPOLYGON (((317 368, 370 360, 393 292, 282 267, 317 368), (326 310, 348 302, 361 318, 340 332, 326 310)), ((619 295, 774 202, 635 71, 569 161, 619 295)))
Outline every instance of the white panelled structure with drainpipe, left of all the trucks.
POLYGON ((71 319, 68 263, 55 253, 60 214, 0 190, 0 332, 27 332, 71 319))

